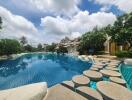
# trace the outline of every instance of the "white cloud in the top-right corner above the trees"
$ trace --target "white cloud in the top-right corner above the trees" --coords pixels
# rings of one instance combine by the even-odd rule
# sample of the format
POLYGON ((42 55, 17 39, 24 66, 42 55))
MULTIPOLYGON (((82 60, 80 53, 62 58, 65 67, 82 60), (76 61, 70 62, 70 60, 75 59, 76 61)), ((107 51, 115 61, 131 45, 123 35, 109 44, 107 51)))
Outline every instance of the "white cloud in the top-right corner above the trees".
POLYGON ((132 12, 132 0, 92 0, 92 1, 100 5, 103 5, 104 7, 114 5, 117 6, 118 9, 124 12, 127 13, 132 12))

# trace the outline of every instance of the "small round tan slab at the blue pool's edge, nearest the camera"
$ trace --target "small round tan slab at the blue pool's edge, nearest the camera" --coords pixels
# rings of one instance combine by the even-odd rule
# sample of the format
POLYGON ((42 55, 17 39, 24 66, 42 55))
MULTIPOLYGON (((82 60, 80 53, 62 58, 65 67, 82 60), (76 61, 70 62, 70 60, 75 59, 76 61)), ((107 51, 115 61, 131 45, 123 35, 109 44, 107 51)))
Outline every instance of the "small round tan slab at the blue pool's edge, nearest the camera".
POLYGON ((76 75, 72 78, 72 81, 78 85, 88 85, 90 83, 89 78, 83 75, 76 75))

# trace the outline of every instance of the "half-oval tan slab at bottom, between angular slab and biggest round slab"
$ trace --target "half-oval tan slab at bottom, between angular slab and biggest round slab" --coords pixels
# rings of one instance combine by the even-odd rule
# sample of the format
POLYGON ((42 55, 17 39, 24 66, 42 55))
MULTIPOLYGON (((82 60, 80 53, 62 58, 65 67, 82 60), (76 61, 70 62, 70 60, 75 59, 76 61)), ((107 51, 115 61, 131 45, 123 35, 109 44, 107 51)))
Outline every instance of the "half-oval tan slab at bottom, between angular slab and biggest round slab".
POLYGON ((99 92, 86 86, 78 87, 76 92, 85 96, 89 100, 103 100, 103 97, 101 96, 99 92))

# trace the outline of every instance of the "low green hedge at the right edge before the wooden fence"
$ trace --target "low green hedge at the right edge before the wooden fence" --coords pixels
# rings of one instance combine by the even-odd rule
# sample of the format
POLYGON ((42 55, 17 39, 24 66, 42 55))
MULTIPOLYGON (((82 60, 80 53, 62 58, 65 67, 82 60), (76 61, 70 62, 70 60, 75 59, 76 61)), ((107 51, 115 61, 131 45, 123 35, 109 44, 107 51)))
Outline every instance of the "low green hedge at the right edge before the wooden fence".
POLYGON ((119 51, 116 53, 116 56, 119 58, 132 58, 132 51, 119 51))

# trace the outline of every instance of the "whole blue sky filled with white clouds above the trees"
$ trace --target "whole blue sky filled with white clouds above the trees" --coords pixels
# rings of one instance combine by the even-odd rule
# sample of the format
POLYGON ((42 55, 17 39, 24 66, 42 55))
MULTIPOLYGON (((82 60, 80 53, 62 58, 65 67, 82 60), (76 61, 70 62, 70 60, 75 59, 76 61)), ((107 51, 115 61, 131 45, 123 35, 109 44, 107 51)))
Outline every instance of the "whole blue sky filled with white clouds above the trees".
POLYGON ((116 16, 131 11, 132 0, 0 0, 0 38, 58 42, 113 24, 116 16))

